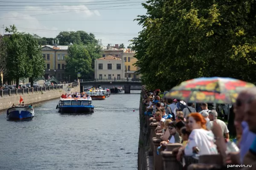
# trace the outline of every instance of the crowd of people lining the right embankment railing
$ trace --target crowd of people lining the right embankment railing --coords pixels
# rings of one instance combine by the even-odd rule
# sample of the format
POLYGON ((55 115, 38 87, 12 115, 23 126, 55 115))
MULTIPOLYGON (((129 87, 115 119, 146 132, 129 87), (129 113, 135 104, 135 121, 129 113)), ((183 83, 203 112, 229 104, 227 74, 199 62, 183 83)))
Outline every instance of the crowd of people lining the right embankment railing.
POLYGON ((233 105, 236 142, 230 140, 226 123, 218 119, 217 111, 208 109, 207 103, 161 99, 159 93, 143 89, 144 114, 156 120, 151 122, 157 125, 155 132, 163 133, 161 147, 182 143, 173 150, 177 161, 182 161, 183 156, 219 154, 224 164, 243 164, 241 168, 245 169, 256 165, 256 88, 241 91, 233 105))

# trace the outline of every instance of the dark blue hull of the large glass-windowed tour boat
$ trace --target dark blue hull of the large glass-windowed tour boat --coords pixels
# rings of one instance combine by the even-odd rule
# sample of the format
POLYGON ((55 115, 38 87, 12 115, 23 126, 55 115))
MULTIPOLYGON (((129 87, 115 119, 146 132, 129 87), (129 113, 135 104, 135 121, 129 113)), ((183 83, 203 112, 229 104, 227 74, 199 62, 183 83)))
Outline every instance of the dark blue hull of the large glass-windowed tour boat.
POLYGON ((94 106, 61 106, 59 107, 59 111, 61 113, 88 113, 93 111, 94 106))

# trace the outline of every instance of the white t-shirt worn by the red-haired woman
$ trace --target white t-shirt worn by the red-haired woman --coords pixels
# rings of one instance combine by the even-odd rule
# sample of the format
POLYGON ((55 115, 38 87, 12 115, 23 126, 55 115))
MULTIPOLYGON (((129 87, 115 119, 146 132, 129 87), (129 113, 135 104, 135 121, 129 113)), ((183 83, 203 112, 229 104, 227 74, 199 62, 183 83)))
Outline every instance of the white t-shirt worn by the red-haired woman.
POLYGON ((218 154, 216 145, 214 144, 214 135, 212 131, 204 129, 194 129, 189 135, 188 143, 185 147, 185 155, 193 155, 193 147, 199 148, 198 155, 218 154))

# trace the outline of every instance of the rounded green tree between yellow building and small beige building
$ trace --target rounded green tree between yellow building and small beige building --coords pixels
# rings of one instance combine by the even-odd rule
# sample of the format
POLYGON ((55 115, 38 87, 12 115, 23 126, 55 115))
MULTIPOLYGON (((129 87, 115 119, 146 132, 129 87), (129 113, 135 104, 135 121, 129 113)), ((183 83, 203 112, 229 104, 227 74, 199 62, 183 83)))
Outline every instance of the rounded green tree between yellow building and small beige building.
POLYGON ((67 65, 65 71, 72 79, 77 79, 77 73, 81 77, 89 78, 92 70, 92 59, 84 45, 72 45, 68 48, 68 56, 65 58, 67 65))

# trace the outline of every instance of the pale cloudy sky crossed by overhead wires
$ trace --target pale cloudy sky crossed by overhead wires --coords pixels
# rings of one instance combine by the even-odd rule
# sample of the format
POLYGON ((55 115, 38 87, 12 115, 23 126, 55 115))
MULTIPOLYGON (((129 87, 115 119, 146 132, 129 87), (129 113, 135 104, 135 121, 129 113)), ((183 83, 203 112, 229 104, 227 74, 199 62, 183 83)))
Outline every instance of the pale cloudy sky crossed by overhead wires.
MULTIPOLYGON (((137 15, 146 10, 145 0, 0 0, 0 34, 3 25, 40 37, 56 37, 60 31, 95 34, 102 45, 127 47, 142 26, 137 15)), ((8 33, 4 33, 8 34, 8 33)))

